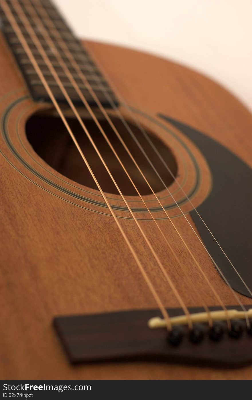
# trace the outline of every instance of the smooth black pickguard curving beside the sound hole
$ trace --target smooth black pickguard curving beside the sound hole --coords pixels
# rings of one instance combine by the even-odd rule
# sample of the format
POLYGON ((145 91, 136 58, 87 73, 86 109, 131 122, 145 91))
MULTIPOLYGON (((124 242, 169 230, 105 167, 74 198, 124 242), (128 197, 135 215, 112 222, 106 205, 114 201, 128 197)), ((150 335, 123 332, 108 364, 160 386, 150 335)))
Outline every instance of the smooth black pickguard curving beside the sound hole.
MULTIPOLYGON (((227 148, 190 126, 158 115, 185 134, 202 152, 213 175, 213 188, 197 211, 252 290, 252 170, 227 148)), ((252 297, 193 210, 190 212, 207 250, 233 289, 252 297)))

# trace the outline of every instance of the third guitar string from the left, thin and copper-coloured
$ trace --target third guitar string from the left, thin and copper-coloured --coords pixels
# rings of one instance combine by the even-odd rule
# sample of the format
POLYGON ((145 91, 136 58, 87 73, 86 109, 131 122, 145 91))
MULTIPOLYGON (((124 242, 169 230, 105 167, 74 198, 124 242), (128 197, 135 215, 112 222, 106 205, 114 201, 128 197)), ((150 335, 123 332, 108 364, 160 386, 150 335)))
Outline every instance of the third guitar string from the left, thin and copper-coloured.
MULTIPOLYGON (((32 2, 30 1, 30 3, 32 3, 32 2)), ((40 3, 41 3, 41 2, 40 2, 40 3)), ((24 4, 24 2, 23 2, 23 4, 24 4)), ((37 2, 36 2, 36 4, 37 4, 37 2)), ((41 4, 41 6, 43 7, 43 4, 41 4)), ((28 7, 28 8, 30 8, 30 7, 28 7)), ((39 7, 39 10, 40 10, 40 14, 41 14, 41 7, 39 7)), ((37 12, 37 15, 39 16, 39 18, 41 17, 40 14, 37 12)), ((46 24, 46 25, 47 25, 47 28, 48 28, 48 22, 51 22, 51 21, 48 20, 48 18, 47 18, 47 13, 46 13, 45 10, 44 10, 44 12, 42 12, 42 14, 43 14, 43 23, 45 24, 45 22, 47 21, 47 24, 46 24)), ((33 15, 32 13, 30 13, 30 16, 34 17, 34 15, 33 15)), ((39 22, 41 22, 40 19, 37 21, 37 23, 39 23, 39 22)), ((50 26, 54 26, 54 24, 51 22, 50 26)), ((51 30, 50 30, 50 34, 51 34, 51 30)), ((54 54, 55 54, 55 50, 57 51, 57 48, 55 48, 55 45, 54 45, 54 43, 52 42, 51 37, 49 36, 49 34, 47 33, 47 31, 46 31, 46 36, 47 36, 47 38, 48 38, 48 40, 49 40, 49 43, 47 42, 47 40, 46 40, 46 38, 45 38, 45 35, 43 35, 44 40, 47 42, 47 45, 48 45, 48 44, 50 45, 50 48, 53 48, 53 49, 54 49, 54 54)), ((54 34, 54 36, 55 36, 55 34, 54 34)), ((58 36, 58 38, 60 38, 60 36, 58 36)), ((64 50, 64 54, 68 54, 68 49, 67 49, 67 48, 64 47, 63 50, 64 50)), ((69 58, 69 56, 68 56, 68 58, 69 58)), ((98 128, 100 129, 102 135, 103 135, 104 138, 106 139, 106 142, 109 144, 109 146, 110 146, 110 148, 112 149, 114 155, 116 156, 116 158, 117 158, 118 161, 120 162, 120 165, 122 166, 122 168, 123 168, 124 171, 126 172, 128 178, 130 179, 130 182, 131 182, 132 185, 134 186, 136 192, 138 193, 138 195, 140 196, 142 202, 144 203, 144 206, 147 208, 147 210, 148 210, 150 216, 151 216, 152 219, 154 220, 156 226, 158 227, 158 229, 159 229, 159 231, 161 232, 163 238, 165 239, 166 243, 168 244, 170 250, 172 251, 173 256, 175 256, 175 259, 177 260, 177 262, 178 262, 179 265, 181 266, 181 269, 183 270, 183 267, 182 267, 182 265, 181 265, 181 262, 179 261, 179 259, 177 258, 175 252, 173 251, 171 245, 170 245, 169 242, 167 241, 167 238, 165 237, 165 235, 163 234, 163 232, 162 232, 161 229, 159 228, 159 226, 158 226, 158 224, 157 224, 155 218, 152 216, 150 210, 148 209, 146 203, 144 202, 142 196, 140 195, 140 192, 139 192, 138 189, 136 188, 134 182, 132 181, 132 179, 130 178, 128 172, 127 172, 126 169, 124 168, 122 162, 121 162, 120 159, 118 158, 118 155, 116 154, 114 148, 112 147, 111 143, 109 142, 107 136, 104 134, 104 131, 103 131, 102 128, 100 127, 100 124, 98 123, 97 119, 95 118, 95 116, 94 116, 94 114, 93 114, 93 112, 92 112, 92 110, 91 110, 89 104, 87 103, 85 97, 83 96, 83 94, 82 94, 81 91, 79 90, 79 87, 78 87, 76 81, 73 79, 73 76, 71 75, 69 69, 65 66, 65 64, 64 64, 64 62, 63 62, 63 60, 62 60, 62 58, 59 59, 59 57, 58 57, 57 60, 58 60, 59 64, 61 65, 61 67, 63 68, 63 70, 64 70, 66 76, 68 76, 69 80, 71 81, 71 83, 72 83, 73 86, 75 87, 75 90, 78 92, 80 98, 82 99, 82 101, 83 101, 83 103, 85 104, 86 108, 88 109, 89 113, 91 114, 91 116, 92 116, 93 119, 95 120, 96 125, 97 125, 98 128)), ((95 100, 96 100, 96 99, 95 99, 95 100)), ((102 111, 103 111, 103 113, 104 113, 104 110, 102 110, 102 111)), ((197 297, 200 297, 200 296, 199 296, 199 293, 196 292, 196 290, 195 290, 195 288, 194 288, 194 286, 193 286, 193 282, 192 282, 192 280, 191 280, 191 277, 189 277, 189 275, 188 275, 187 278, 189 278, 190 282, 192 283, 193 292, 195 292, 195 294, 197 295, 197 297)), ((205 301, 204 301, 202 298, 200 298, 200 300, 201 300, 201 302, 202 302, 202 304, 203 304, 203 308, 205 309, 205 311, 206 311, 207 314, 208 314, 208 317, 209 317, 209 325, 212 326, 212 323, 213 323, 213 322, 212 322, 212 318, 211 318, 211 314, 210 314, 210 312, 209 312, 209 309, 208 309, 207 305, 205 304, 205 301)))

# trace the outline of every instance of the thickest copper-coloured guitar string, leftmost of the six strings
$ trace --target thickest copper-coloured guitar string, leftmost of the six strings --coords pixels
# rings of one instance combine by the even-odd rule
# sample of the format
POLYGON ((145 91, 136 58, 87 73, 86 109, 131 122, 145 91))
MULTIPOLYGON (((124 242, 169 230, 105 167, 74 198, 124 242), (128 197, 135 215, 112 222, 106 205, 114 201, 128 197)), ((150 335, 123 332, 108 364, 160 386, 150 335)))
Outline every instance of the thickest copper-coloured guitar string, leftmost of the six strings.
MULTIPOLYGON (((163 318, 166 321, 167 329, 171 330, 171 322, 170 322, 169 314, 167 313, 167 310, 165 309, 165 306, 163 305, 163 303, 160 300, 160 298, 159 298, 154 286, 152 285, 152 282, 148 278, 148 275, 146 274, 146 272, 145 272, 145 270, 144 270, 144 268, 143 268, 143 266, 142 266, 142 264, 141 264, 141 262, 140 262, 140 260, 139 260, 139 258, 137 256, 136 252, 134 251, 134 248, 130 244, 130 241, 128 240, 128 238, 127 238, 122 226, 120 225, 120 223, 118 221, 118 218, 116 218, 116 215, 114 214, 114 211, 112 210, 108 200, 106 199, 106 196, 105 196, 104 192, 102 191, 102 188, 100 187, 100 185, 99 185, 99 183, 98 183, 98 181, 97 181, 97 179, 95 177, 95 174, 93 173, 93 170, 89 166, 89 163, 87 162, 87 159, 85 158, 85 156, 84 156, 84 154, 83 154, 83 152, 82 152, 82 150, 81 150, 81 148, 80 148, 80 146, 79 146, 79 144, 78 144, 78 142, 77 142, 77 140, 76 140, 76 138, 75 138, 70 126, 69 126, 69 124, 67 123, 67 120, 65 119, 65 116, 63 115, 63 112, 62 112, 61 108, 59 107, 59 104, 58 104, 57 100, 53 96, 53 93, 52 93, 49 85, 47 84, 47 81, 44 78, 44 76, 43 76, 43 74, 42 74, 42 72, 41 72, 41 70, 40 70, 40 68, 39 68, 39 66, 38 66, 33 54, 32 54, 32 51, 30 50, 30 47, 29 47, 24 35, 22 34, 22 31, 20 30, 20 28, 19 28, 19 26, 18 26, 18 24, 17 24, 17 22, 16 22, 16 20, 15 20, 15 18, 13 16, 12 11, 10 10, 10 7, 8 6, 6 0, 1 0, 1 6, 2 6, 2 8, 3 8, 4 12, 5 12, 5 15, 8 18, 8 21, 10 22, 14 32, 16 33, 17 37, 19 38, 20 43, 22 44, 24 50, 26 51, 26 54, 27 54, 28 58, 30 59, 30 61, 31 61, 32 65, 33 65, 33 68, 35 69, 35 71, 37 72, 41 82, 43 83, 43 85, 45 87, 45 90, 47 91, 47 94, 51 98, 51 101, 52 101, 53 105, 55 106, 55 108, 56 108, 56 110, 57 110, 57 112, 58 112, 63 124, 65 125, 65 127, 66 127, 67 131, 69 132, 69 134, 70 134, 75 146, 77 147, 77 149, 78 149, 83 161, 85 162, 85 164, 86 164, 86 166, 87 166, 92 178, 94 179, 95 184, 96 184, 98 190, 100 191, 100 194, 101 194, 102 198, 104 199, 104 202, 106 203, 108 209, 110 210, 110 212, 111 212, 111 214, 112 214, 112 216, 113 216, 113 218, 114 218, 114 220, 116 222, 116 225, 117 225, 118 229, 120 230, 120 232, 121 232, 126 244, 128 245, 128 248, 130 249, 130 252, 131 252, 133 258, 136 261, 136 264, 138 265, 138 267, 140 269, 140 272, 142 273, 142 275, 144 277, 144 280, 146 281, 146 284, 149 287, 149 289, 150 289, 150 291, 151 291, 156 303, 158 304, 158 307, 159 307, 159 309, 161 311, 161 314, 163 315, 163 318)), ((13 3, 12 3, 12 6, 13 6, 13 3)), ((13 6, 13 8, 15 9, 14 6, 13 6)))

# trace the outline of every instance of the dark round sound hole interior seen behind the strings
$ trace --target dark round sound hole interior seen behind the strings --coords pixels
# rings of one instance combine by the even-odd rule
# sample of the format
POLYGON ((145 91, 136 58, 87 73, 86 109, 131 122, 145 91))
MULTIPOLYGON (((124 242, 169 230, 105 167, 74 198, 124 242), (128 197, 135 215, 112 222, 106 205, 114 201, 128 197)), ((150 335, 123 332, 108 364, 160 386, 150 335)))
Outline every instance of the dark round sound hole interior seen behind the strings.
MULTIPOLYGON (((128 146, 132 156, 142 170, 144 176, 150 183, 152 189, 155 192, 160 192, 163 190, 163 183, 160 181, 157 174, 150 166, 150 163, 138 148, 136 142, 134 142, 132 139, 132 136, 130 136, 130 133, 125 128, 124 124, 120 121, 120 119, 112 118, 112 120, 122 139, 128 146)), ((81 128, 79 122, 75 118, 69 118, 67 121, 73 133, 75 134, 83 154, 87 158, 87 161, 89 162, 89 165, 91 166, 102 190, 107 193, 118 194, 114 183, 106 172, 102 162, 96 154, 91 142, 87 138, 87 135, 81 128)), ((137 195, 136 190, 132 186, 118 160, 116 160, 116 157, 112 153, 112 150, 109 148, 95 122, 90 119, 84 119, 83 122, 91 134, 96 146, 98 147, 98 150, 104 158, 104 161, 106 162, 122 193, 128 196, 137 195)), ((125 166, 140 194, 151 194, 152 192, 150 188, 144 181, 140 172, 130 159, 130 156, 123 148, 122 144, 119 142, 116 134, 113 132, 108 122, 106 120, 100 120, 100 124, 102 125, 104 132, 108 136, 108 139, 116 150, 116 153, 120 157, 122 164, 125 166)), ((165 182, 165 185, 169 186, 173 182, 172 176, 163 166, 159 157, 156 155, 146 138, 144 138, 144 135, 140 132, 138 127, 130 122, 128 122, 128 124, 140 142, 141 146, 144 148, 144 151, 150 158, 151 162, 154 164, 161 178, 165 182)), ((167 148, 156 136, 151 135, 150 132, 147 133, 158 149, 158 152, 161 154, 173 172, 173 175, 176 176, 177 164, 171 150, 167 148)), ((49 164, 49 166, 79 184, 88 186, 89 188, 97 189, 95 181, 93 180, 60 118, 39 116, 35 114, 28 120, 26 124, 26 135, 35 152, 47 164, 49 164)))

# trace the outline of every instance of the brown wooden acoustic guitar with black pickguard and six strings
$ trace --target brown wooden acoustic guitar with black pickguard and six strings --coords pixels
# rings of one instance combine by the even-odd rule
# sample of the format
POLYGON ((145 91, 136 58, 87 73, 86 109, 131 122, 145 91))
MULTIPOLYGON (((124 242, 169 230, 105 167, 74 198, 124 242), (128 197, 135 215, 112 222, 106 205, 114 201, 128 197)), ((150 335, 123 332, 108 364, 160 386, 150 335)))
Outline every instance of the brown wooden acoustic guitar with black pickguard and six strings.
POLYGON ((1 377, 252 378, 252 116, 0 0, 1 377))

